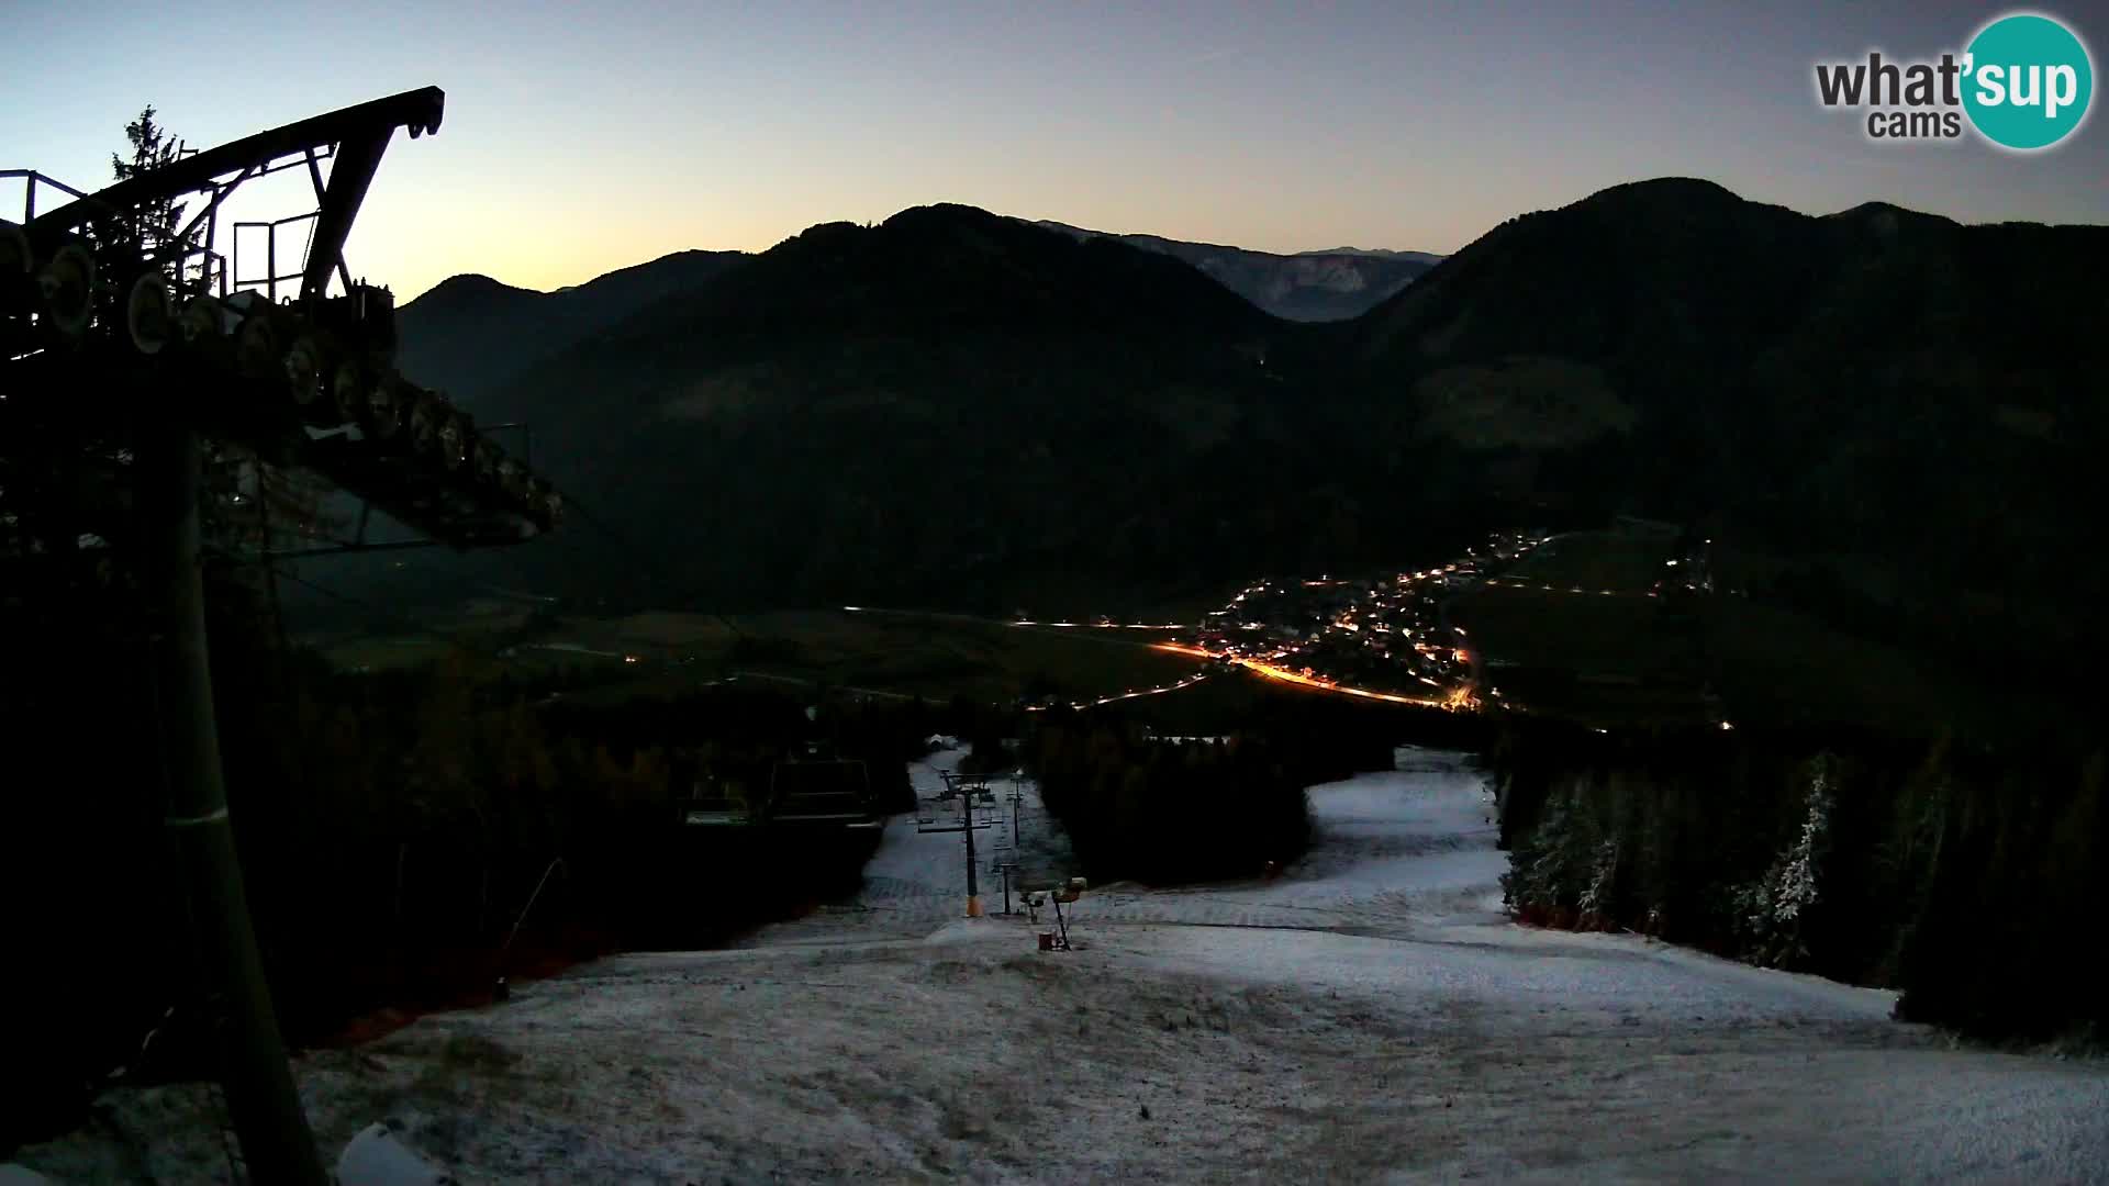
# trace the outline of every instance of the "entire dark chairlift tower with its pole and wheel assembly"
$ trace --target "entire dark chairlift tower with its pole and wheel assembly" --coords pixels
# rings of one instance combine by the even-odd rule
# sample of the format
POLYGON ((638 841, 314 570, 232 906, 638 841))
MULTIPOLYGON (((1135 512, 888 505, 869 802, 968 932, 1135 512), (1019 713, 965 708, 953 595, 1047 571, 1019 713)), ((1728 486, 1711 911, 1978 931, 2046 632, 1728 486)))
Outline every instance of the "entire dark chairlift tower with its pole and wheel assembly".
MULTIPOLYGON (((95 194, 0 171, 25 192, 21 222, 0 222, 0 490, 49 496, 34 515, 0 517, 0 557, 57 559, 95 534, 137 561, 165 825, 205 996, 224 1015, 213 1028, 221 1080, 253 1182, 323 1186, 327 1175, 228 819, 205 637, 200 441, 318 473, 426 536, 415 542, 512 544, 561 515, 548 481, 396 369, 394 298, 344 264, 388 141, 396 129, 437 133, 443 114, 437 87, 405 91, 179 154, 95 194), (230 264, 217 249, 228 194, 285 169, 306 171, 314 209, 230 222, 230 264), (59 203, 40 211, 46 192, 59 203), (205 198, 188 226, 156 226, 186 196, 205 198), (280 270, 278 232, 302 224, 306 253, 287 251, 295 262, 280 270), (257 276, 243 274, 243 230, 264 234, 257 276)), ((365 515, 359 538, 337 547, 371 547, 365 515)), ((268 563, 268 538, 264 551, 268 563)))

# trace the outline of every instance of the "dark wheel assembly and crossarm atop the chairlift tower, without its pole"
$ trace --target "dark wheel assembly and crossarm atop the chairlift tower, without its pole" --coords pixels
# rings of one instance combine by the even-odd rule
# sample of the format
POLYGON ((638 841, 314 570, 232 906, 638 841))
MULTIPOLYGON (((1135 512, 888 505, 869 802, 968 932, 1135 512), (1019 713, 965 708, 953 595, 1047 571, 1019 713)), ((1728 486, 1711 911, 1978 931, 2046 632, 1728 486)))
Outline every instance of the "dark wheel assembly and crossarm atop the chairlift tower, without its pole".
MULTIPOLYGON (((0 433, 93 439, 129 412, 175 412, 266 464, 327 477, 430 542, 510 544, 553 530, 557 490, 394 367, 394 295, 344 264, 390 137, 437 133, 443 114, 441 89, 405 91, 186 154, 95 194, 32 169, 0 171, 23 181, 23 219, 0 219, 0 433), (312 211, 221 226, 230 194, 285 169, 312 179, 312 211), (59 205, 38 209, 51 196, 59 205), (194 196, 202 209, 175 234, 139 232, 143 211, 194 196), (291 241, 304 228, 299 260, 291 241), (245 274, 243 232, 264 238, 255 274, 245 274)), ((363 544, 361 519, 361 538, 344 547, 363 544)))

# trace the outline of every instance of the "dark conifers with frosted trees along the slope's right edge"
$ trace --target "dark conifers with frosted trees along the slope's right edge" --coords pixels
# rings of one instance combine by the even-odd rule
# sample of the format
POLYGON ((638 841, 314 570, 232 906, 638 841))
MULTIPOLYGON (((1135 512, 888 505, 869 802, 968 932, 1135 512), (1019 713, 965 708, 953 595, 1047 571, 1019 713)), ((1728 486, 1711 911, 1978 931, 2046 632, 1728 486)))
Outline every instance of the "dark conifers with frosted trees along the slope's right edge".
POLYGON ((1489 751, 1525 920, 1900 990, 1989 1038, 2101 1034, 2105 751, 1512 722, 1489 751))

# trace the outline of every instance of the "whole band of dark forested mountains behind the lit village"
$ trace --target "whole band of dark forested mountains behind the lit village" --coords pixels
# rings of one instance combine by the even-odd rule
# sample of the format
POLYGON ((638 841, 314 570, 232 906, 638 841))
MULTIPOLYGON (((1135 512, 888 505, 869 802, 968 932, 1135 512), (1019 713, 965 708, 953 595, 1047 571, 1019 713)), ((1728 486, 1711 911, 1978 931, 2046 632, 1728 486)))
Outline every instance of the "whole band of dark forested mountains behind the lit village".
POLYGON ((2105 228, 1660 179, 1335 323, 968 207, 563 293, 456 279, 403 306, 405 374, 529 420, 586 517, 405 553, 386 595, 1114 610, 1639 513, 2098 637, 2105 264, 2105 228))

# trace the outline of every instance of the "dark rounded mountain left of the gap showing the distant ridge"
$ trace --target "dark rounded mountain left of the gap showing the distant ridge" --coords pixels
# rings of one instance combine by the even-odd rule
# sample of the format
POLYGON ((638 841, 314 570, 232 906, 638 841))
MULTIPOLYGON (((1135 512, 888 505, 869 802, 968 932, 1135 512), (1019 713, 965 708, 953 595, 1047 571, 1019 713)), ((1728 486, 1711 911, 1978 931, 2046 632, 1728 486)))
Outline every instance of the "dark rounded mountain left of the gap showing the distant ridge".
POLYGON ((979 209, 816 226, 475 397, 527 420, 536 466, 620 540, 574 519, 386 572, 396 593, 1014 606, 1318 563, 1339 490, 1308 445, 1310 329, 1168 255, 979 209))

